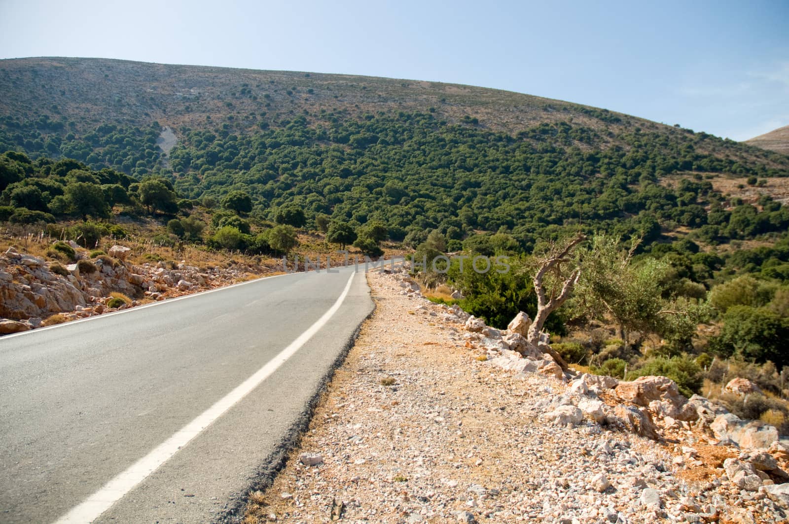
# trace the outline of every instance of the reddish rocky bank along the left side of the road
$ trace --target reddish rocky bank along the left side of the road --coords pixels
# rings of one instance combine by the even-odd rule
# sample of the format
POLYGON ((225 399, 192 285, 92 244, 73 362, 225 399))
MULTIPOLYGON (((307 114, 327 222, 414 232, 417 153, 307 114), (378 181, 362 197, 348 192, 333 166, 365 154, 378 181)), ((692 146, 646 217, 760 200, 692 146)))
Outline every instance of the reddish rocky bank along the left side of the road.
POLYGON ((239 268, 185 262, 175 268, 161 262, 135 265, 125 260, 128 253, 129 248, 114 245, 109 256, 62 265, 9 248, 0 254, 0 335, 226 286, 246 275, 239 268), (131 300, 112 303, 111 293, 131 300))

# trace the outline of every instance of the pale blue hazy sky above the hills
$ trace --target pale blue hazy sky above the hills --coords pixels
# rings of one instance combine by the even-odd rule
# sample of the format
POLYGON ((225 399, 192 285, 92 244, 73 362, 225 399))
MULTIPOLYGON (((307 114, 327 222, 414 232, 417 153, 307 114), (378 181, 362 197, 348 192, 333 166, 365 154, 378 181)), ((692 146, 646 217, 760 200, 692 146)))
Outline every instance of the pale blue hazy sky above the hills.
POLYGON ((734 140, 789 125, 789 1, 0 0, 0 58, 473 84, 734 140))

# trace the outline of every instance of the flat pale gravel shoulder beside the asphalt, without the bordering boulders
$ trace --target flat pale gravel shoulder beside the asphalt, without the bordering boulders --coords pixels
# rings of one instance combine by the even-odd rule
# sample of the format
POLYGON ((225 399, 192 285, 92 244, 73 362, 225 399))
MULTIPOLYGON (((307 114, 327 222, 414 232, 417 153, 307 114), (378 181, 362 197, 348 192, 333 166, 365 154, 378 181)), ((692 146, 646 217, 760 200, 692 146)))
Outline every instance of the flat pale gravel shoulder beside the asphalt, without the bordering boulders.
POLYGON ((376 312, 284 469, 250 494, 247 524, 787 522, 763 488, 720 475, 737 451, 707 452, 691 431, 659 444, 590 417, 548 421, 573 394, 565 380, 492 365, 402 275, 368 282, 376 312), (694 443, 701 454, 677 460, 694 443))

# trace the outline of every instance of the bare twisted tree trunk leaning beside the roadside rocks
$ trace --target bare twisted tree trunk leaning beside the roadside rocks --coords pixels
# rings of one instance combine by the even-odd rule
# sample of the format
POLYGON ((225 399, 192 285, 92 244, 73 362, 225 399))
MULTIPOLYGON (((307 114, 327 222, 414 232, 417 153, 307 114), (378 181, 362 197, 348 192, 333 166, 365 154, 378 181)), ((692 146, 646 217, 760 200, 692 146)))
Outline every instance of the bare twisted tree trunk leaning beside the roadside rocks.
POLYGON ((559 275, 559 269, 562 264, 568 262, 567 255, 570 254, 572 249, 585 240, 583 234, 579 234, 567 244, 559 253, 548 253, 548 256, 542 260, 540 268, 534 275, 534 290, 537 292, 537 314, 534 316, 531 327, 529 327, 528 336, 526 340, 529 344, 537 346, 540 342, 540 331, 548 320, 548 315, 553 313, 560 305, 563 305, 567 298, 570 298, 570 293, 573 286, 578 283, 578 278, 581 276, 581 268, 575 268, 570 275, 564 279, 561 290, 556 294, 555 290, 551 290, 550 296, 545 290, 544 279, 549 271, 555 271, 559 275))

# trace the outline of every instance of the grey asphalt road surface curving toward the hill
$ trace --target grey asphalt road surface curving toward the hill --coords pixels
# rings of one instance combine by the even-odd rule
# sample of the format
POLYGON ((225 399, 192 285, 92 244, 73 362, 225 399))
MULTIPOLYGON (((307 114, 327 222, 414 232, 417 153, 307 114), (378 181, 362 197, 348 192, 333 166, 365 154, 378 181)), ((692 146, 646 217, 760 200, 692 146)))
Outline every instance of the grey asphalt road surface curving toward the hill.
POLYGON ((260 279, 0 339, 0 522, 57 522, 86 500, 90 515, 116 495, 94 522, 221 522, 372 311, 364 273, 352 274, 260 279), (242 399, 215 406, 294 341, 242 399), (217 409, 133 488, 107 489, 217 409))

